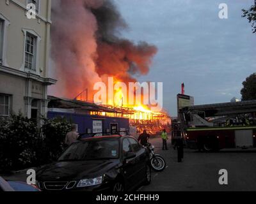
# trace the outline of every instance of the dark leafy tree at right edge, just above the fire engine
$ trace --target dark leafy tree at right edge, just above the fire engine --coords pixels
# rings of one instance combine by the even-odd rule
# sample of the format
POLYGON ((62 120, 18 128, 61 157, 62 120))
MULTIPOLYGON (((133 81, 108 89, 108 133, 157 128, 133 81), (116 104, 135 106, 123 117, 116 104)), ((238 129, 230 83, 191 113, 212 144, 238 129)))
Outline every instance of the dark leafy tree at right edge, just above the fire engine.
POLYGON ((256 73, 247 77, 241 90, 242 101, 256 100, 256 73))

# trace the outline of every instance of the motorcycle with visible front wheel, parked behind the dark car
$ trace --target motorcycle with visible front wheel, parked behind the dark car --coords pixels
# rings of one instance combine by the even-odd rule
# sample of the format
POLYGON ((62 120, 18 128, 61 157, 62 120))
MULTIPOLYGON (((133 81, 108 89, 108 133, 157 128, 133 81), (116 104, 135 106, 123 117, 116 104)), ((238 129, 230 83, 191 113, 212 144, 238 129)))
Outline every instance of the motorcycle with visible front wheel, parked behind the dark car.
POLYGON ((151 168, 154 170, 154 171, 157 171, 157 172, 160 172, 160 171, 163 171, 165 166, 166 166, 166 163, 163 159, 163 157, 161 157, 159 154, 155 154, 154 153, 154 145, 148 143, 146 145, 148 151, 149 151, 149 154, 150 154, 150 166, 151 168))

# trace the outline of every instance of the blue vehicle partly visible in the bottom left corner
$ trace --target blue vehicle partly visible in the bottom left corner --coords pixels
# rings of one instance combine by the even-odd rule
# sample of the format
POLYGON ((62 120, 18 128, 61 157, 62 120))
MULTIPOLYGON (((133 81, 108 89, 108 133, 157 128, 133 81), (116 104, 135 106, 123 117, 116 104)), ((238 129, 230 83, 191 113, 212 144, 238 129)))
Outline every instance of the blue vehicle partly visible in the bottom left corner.
POLYGON ((0 192, 1 191, 40 191, 38 187, 28 185, 25 182, 6 181, 0 177, 0 192))

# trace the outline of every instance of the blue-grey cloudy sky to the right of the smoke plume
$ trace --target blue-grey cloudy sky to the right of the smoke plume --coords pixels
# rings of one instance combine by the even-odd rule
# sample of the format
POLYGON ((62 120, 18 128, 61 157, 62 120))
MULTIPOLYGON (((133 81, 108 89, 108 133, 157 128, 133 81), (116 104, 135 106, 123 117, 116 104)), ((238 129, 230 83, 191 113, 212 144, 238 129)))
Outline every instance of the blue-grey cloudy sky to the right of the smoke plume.
POLYGON ((164 82, 164 108, 177 115, 176 95, 185 84, 195 104, 228 102, 256 71, 255 43, 242 9, 254 0, 115 0, 129 30, 122 36, 159 49, 142 81, 164 82), (218 18, 220 3, 228 19, 218 18))

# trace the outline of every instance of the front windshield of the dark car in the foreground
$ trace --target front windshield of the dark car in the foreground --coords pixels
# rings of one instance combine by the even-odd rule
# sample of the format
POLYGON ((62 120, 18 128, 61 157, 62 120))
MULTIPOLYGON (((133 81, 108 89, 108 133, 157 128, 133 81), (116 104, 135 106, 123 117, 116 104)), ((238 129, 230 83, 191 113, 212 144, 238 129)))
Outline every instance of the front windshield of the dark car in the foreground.
POLYGON ((117 159, 118 140, 89 140, 73 143, 58 161, 117 159))

